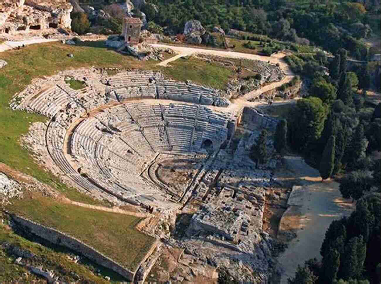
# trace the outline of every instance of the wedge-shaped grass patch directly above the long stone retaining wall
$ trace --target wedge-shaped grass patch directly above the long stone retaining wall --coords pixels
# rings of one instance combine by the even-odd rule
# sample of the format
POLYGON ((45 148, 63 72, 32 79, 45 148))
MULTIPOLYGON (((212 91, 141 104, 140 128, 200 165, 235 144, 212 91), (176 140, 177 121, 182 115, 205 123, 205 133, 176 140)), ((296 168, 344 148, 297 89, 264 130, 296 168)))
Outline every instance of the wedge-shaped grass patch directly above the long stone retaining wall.
POLYGON ((68 233, 126 268, 137 268, 154 238, 135 229, 141 218, 104 212, 48 198, 14 201, 8 210, 68 233))

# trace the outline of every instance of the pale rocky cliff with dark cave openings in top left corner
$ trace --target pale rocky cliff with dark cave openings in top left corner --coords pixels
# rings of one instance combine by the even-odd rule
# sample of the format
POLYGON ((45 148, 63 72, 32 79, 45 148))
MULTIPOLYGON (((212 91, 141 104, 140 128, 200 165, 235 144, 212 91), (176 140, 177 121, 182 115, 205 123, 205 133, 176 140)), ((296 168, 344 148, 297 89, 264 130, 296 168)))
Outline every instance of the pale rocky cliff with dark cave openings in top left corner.
POLYGON ((32 30, 70 29, 73 7, 66 0, 2 0, 0 34, 26 33, 32 30))

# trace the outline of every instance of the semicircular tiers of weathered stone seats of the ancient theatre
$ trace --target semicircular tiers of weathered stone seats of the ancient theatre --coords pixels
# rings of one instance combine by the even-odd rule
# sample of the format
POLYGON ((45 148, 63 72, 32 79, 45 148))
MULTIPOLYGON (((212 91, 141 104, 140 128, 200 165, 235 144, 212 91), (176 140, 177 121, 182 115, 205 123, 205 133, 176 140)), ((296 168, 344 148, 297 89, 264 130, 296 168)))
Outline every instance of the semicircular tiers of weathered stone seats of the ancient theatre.
POLYGON ((205 140, 213 141, 214 150, 218 149, 227 139, 229 121, 229 115, 199 104, 126 100, 174 99, 171 90, 176 84, 182 94, 178 99, 186 98, 187 92, 198 96, 187 102, 217 97, 213 89, 165 80, 157 73, 125 72, 107 82, 87 81, 80 90, 64 82, 55 82, 37 94, 31 88, 26 91, 29 99, 24 108, 51 118, 45 137, 48 152, 79 187, 115 203, 154 202, 165 208, 168 199, 178 201, 179 196, 163 192, 142 172, 158 153, 205 153, 205 140), (119 92, 121 86, 128 96, 119 92))

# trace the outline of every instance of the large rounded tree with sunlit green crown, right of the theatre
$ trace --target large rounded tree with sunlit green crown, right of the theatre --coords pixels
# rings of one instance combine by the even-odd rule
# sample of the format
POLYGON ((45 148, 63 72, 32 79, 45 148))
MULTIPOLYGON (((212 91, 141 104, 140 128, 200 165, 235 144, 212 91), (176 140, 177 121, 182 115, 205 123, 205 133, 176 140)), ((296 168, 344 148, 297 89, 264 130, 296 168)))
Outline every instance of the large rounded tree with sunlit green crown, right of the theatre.
POLYGON ((304 151, 320 139, 327 106, 317 97, 307 97, 298 100, 294 113, 289 124, 291 145, 297 151, 304 151))

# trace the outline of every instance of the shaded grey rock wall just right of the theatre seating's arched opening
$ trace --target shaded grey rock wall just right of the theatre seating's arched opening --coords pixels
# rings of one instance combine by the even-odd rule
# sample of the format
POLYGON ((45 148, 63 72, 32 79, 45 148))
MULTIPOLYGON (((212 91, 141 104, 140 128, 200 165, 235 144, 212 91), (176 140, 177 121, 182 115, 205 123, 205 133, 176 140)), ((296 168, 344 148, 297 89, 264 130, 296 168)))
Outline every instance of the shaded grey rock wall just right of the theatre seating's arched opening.
POLYGON ((261 127, 269 131, 275 131, 278 123, 278 120, 275 118, 271 118, 252 107, 243 108, 241 121, 245 124, 245 127, 250 130, 261 127))

